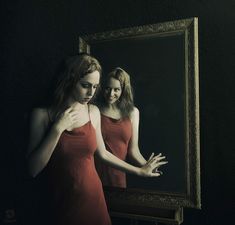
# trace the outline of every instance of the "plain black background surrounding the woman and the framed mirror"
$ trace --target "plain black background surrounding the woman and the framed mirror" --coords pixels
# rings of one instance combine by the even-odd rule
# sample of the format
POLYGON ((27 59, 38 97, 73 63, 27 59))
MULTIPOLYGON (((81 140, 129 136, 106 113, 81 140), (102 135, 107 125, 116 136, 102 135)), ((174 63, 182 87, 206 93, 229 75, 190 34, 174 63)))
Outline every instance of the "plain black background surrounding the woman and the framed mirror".
POLYGON ((234 207, 234 12, 233 0, 1 1, 1 220, 9 222, 15 212, 20 224, 25 213, 25 118, 61 59, 77 52, 78 35, 196 16, 202 210, 185 209, 183 224, 228 223, 234 207))

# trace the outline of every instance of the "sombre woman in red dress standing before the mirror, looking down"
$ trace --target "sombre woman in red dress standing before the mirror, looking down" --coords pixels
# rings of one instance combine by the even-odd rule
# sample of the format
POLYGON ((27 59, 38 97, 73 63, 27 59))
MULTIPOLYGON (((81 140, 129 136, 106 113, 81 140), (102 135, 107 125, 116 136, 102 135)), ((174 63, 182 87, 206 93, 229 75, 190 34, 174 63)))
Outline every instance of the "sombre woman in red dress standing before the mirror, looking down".
POLYGON ((57 82, 51 104, 31 117, 29 171, 47 178, 53 224, 110 225, 102 184, 94 166, 96 154, 105 163, 141 176, 159 176, 153 169, 166 162, 150 157, 134 167, 106 150, 100 112, 89 102, 99 86, 101 66, 87 55, 70 57, 57 82))

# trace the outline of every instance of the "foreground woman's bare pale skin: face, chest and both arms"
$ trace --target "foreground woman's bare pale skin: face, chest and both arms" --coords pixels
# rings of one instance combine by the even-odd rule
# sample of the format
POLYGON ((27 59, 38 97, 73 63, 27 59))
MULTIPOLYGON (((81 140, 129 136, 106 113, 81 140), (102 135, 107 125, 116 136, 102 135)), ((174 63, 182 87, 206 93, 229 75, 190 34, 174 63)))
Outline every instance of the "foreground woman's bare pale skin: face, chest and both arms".
MULTIPOLYGON (((153 170, 167 163, 161 161, 163 157, 160 155, 154 156, 154 154, 152 154, 142 167, 135 167, 118 159, 105 149, 101 134, 100 111, 96 106, 90 105, 90 117, 88 114, 88 103, 94 96, 99 82, 100 74, 98 71, 89 73, 80 79, 76 90, 68 99, 69 107, 60 116, 54 118, 54 122, 49 130, 50 121, 47 109, 36 108, 33 110, 28 150, 29 171, 33 177, 37 176, 48 164, 62 132, 83 126, 90 120, 90 117, 91 123, 96 131, 96 154, 98 154, 102 161, 122 171, 140 176, 159 176, 159 173, 153 173, 153 170)), ((133 144, 134 143, 133 141, 133 144)))

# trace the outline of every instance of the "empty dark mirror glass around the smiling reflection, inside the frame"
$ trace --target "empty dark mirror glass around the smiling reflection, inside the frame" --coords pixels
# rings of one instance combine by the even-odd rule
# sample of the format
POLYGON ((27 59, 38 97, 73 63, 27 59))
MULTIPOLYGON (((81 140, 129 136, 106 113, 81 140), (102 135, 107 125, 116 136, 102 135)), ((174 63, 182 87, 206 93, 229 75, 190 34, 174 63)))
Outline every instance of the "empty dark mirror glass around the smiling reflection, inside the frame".
POLYGON ((184 34, 94 43, 91 53, 104 74, 115 66, 130 71, 140 110, 141 153, 147 158, 152 151, 162 152, 169 161, 161 178, 128 176, 128 187, 186 192, 184 34))

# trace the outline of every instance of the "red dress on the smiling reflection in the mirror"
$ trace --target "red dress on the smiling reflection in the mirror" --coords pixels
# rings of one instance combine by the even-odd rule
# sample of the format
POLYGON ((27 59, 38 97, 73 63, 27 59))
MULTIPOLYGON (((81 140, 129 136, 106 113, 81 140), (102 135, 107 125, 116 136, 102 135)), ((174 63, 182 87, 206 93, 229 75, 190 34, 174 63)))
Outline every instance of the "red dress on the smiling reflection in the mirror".
MULTIPOLYGON (((101 131, 106 149, 122 160, 126 160, 132 136, 129 118, 113 119, 101 114, 101 131)), ((96 160, 97 172, 104 186, 126 187, 126 174, 96 160)))

